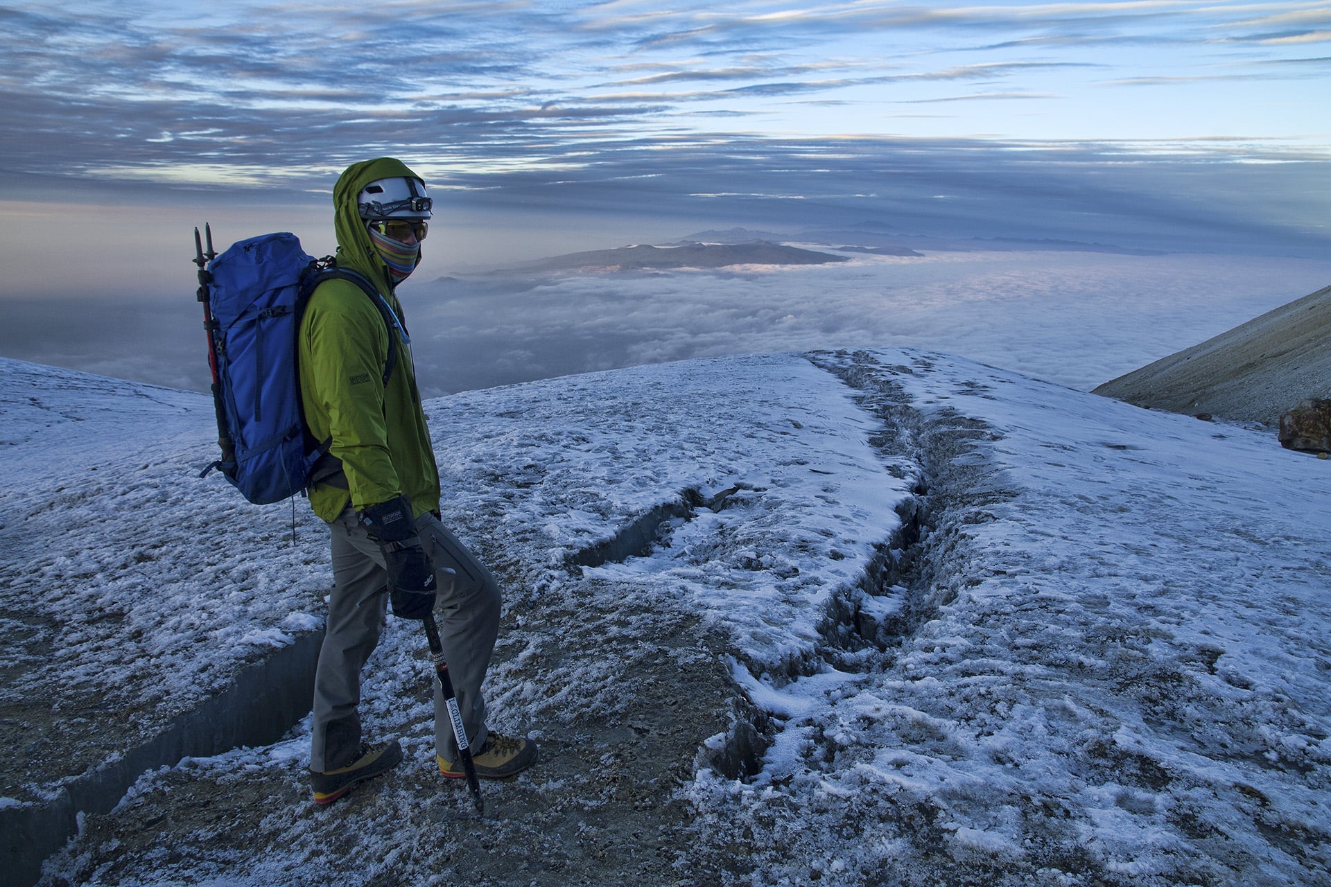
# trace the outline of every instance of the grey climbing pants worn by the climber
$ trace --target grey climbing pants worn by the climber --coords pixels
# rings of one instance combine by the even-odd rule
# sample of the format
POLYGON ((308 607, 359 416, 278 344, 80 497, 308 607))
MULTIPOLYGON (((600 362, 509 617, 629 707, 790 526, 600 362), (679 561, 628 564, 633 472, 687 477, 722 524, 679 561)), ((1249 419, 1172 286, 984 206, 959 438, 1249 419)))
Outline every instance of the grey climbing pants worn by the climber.
MULTIPOLYGON (((389 610, 387 570, 379 544, 365 533, 347 507, 330 525, 333 593, 314 676, 310 770, 323 773, 350 763, 361 746, 361 670, 379 642, 389 610)), ((467 742, 479 749, 488 734, 480 685, 499 633, 500 593, 490 572, 434 515, 417 519, 417 532, 438 572, 435 621, 458 694, 467 742)), ((417 622, 410 625, 417 626, 417 622)), ((426 646, 419 630, 421 646, 426 646)), ((418 680, 433 680, 434 670, 418 680)), ((405 676, 409 681, 414 676, 405 676)), ((434 741, 445 761, 457 759, 457 742, 439 682, 434 682, 434 741)))

